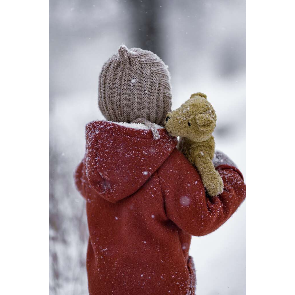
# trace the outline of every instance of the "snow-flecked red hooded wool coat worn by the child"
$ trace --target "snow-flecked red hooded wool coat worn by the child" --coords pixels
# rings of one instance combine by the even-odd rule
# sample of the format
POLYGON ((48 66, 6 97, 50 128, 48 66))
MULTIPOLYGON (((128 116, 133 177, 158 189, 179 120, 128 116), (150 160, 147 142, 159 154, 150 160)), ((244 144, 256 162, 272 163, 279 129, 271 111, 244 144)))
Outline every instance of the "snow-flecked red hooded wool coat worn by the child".
POLYGON ((176 138, 94 121, 75 173, 87 200, 91 295, 194 294, 191 235, 220 227, 245 199, 240 171, 221 165, 224 192, 209 198, 176 138))

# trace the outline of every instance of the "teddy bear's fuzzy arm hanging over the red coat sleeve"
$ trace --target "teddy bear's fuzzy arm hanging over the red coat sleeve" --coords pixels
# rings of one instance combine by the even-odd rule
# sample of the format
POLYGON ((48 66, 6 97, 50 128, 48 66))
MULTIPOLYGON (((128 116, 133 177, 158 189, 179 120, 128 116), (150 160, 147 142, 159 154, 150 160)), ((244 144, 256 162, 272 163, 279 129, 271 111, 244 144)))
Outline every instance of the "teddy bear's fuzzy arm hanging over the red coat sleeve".
POLYGON ((196 157, 195 165, 209 196, 217 196, 223 191, 223 181, 215 170, 212 160, 207 157, 196 157))

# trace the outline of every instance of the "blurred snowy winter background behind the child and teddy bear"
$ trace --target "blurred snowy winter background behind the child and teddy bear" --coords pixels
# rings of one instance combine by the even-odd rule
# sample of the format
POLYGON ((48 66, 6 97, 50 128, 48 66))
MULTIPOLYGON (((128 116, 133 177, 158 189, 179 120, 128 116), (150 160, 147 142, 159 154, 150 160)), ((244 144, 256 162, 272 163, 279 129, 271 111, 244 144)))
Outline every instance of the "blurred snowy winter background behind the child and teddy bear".
MULTIPOLYGON (((176 109, 203 92, 216 148, 245 174, 245 0, 50 0, 50 294, 86 295, 88 229, 73 171, 84 127, 104 119, 98 75, 120 44, 169 66, 176 109)), ((196 294, 245 294, 245 203, 216 232, 193 237, 196 294)))

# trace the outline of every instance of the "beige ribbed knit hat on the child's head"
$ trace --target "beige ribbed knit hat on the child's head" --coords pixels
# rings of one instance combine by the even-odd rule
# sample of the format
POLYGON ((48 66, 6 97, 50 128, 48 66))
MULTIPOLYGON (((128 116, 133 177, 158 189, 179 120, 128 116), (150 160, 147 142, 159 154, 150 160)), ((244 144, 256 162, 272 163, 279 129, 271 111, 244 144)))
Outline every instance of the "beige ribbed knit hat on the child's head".
POLYGON ((98 105, 109 121, 130 123, 144 118, 164 125, 171 111, 167 66, 151 51, 121 45, 101 69, 98 105))

